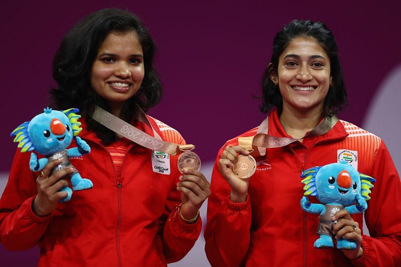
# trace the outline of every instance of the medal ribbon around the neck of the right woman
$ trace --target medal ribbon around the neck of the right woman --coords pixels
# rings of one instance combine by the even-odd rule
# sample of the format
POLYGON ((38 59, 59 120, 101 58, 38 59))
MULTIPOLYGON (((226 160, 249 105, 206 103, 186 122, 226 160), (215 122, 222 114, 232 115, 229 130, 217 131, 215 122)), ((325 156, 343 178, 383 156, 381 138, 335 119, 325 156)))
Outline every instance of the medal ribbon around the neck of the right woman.
POLYGON ((296 139, 290 137, 276 137, 266 134, 269 133, 269 116, 267 116, 267 118, 259 126, 256 135, 249 137, 239 137, 238 145, 244 147, 245 149, 254 151, 253 153, 255 156, 264 156, 266 155, 266 148, 283 147, 306 137, 323 135, 330 131, 337 122, 337 116, 327 116, 304 137, 296 139), (254 150, 253 147, 257 147, 257 150, 254 150))

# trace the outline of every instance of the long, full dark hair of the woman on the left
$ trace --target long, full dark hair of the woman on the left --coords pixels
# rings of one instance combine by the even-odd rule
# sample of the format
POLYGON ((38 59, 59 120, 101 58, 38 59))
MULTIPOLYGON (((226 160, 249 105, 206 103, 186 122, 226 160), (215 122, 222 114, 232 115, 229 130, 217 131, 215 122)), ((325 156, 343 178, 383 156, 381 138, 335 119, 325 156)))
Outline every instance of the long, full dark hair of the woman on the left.
POLYGON ((58 109, 79 108, 88 129, 106 143, 116 140, 113 131, 94 121, 90 114, 95 105, 110 112, 107 101, 93 89, 90 73, 98 50, 110 32, 134 31, 143 50, 145 74, 138 92, 128 99, 120 113, 131 122, 138 105, 145 112, 161 99, 161 84, 153 67, 155 45, 148 31, 132 13, 120 9, 104 9, 90 14, 65 36, 53 60, 53 78, 58 88, 51 89, 53 104, 58 109))

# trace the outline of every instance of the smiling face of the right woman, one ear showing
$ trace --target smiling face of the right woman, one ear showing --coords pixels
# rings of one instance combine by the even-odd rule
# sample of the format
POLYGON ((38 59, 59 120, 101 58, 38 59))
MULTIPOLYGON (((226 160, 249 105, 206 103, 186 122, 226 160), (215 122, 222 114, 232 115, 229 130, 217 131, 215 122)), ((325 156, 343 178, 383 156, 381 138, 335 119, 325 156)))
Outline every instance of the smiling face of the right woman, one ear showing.
POLYGON ((330 86, 330 59, 313 38, 293 39, 280 55, 277 74, 283 111, 323 111, 330 86))

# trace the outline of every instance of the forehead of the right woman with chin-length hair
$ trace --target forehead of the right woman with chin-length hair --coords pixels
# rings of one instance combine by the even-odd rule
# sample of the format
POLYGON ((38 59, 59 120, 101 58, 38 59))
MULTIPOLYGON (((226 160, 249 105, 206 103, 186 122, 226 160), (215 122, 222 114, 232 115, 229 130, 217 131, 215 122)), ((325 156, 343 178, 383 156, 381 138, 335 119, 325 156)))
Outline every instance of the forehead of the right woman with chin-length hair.
POLYGON ((281 54, 281 58, 285 57, 286 55, 319 55, 325 59, 329 58, 323 47, 316 41, 316 39, 308 37, 297 37, 291 40, 281 54))

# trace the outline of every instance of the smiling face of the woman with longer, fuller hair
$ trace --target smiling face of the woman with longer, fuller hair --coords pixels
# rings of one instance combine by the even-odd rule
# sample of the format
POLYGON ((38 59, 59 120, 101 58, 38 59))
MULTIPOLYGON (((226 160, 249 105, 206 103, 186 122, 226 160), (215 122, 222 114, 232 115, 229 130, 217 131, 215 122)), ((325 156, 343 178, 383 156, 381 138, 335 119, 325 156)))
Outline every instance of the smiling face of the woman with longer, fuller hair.
POLYGON ((138 90, 145 74, 142 46, 135 32, 111 32, 93 62, 90 81, 118 116, 125 101, 138 90))

